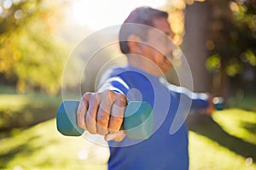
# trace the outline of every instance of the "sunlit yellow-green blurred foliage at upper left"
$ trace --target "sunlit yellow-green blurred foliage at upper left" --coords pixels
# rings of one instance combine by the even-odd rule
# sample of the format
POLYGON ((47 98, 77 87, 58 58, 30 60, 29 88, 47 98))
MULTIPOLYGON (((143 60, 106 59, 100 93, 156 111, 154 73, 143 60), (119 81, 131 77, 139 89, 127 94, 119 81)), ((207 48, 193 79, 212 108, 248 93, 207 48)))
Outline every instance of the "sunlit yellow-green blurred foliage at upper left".
POLYGON ((59 89, 67 55, 58 37, 64 7, 61 1, 1 1, 0 77, 20 92, 59 89))

